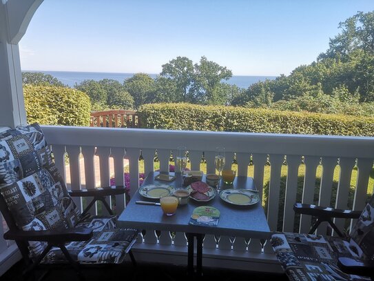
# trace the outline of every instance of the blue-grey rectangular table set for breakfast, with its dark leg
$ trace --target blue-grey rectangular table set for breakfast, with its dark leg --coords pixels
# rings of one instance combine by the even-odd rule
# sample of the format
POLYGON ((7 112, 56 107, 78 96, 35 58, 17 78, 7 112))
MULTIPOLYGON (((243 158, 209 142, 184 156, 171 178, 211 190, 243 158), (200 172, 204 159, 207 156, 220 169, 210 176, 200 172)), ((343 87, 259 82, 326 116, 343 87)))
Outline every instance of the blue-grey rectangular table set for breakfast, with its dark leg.
MULTIPOLYGON (((174 173, 169 173, 174 175, 174 173)), ((180 173, 175 173, 175 180, 165 182, 156 180, 158 172, 150 172, 145 178, 138 191, 129 200, 124 211, 118 216, 118 227, 134 227, 137 229, 155 229, 158 231, 180 231, 187 237, 187 273, 188 275, 202 275, 202 244, 204 236, 227 235, 242 238, 269 239, 271 231, 267 224, 267 218, 261 204, 242 206, 231 204, 229 200, 222 200, 220 194, 216 193, 207 202, 198 202, 190 197, 188 204, 178 206, 175 215, 164 215, 158 204, 159 199, 149 198, 142 192, 144 186, 152 184, 167 184, 172 188, 180 187, 183 178, 180 173), (139 192, 141 191, 141 192, 139 192), (142 194, 141 194, 142 193, 142 194), (137 201, 149 202, 149 204, 137 204, 137 201), (202 226, 189 224, 191 214, 198 206, 213 206, 220 211, 220 217, 216 226, 202 226), (194 240, 196 239, 196 269, 194 264, 194 240)), ((205 175, 202 176, 205 182, 205 175)), ((222 182, 221 182, 222 184, 222 182)), ((257 188, 253 177, 237 176, 231 186, 222 185, 221 193, 227 188, 247 189, 256 194, 257 188)), ((216 190, 216 188, 214 188, 216 190)))

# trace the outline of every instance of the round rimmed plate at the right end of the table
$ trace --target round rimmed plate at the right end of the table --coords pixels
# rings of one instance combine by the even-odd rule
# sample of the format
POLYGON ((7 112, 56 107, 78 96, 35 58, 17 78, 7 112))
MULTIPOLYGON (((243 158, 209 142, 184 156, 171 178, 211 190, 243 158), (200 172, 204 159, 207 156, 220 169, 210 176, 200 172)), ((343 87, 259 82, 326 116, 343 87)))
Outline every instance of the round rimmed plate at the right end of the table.
POLYGON ((230 204, 248 206, 260 201, 258 193, 249 189, 229 188, 221 191, 220 198, 230 204))

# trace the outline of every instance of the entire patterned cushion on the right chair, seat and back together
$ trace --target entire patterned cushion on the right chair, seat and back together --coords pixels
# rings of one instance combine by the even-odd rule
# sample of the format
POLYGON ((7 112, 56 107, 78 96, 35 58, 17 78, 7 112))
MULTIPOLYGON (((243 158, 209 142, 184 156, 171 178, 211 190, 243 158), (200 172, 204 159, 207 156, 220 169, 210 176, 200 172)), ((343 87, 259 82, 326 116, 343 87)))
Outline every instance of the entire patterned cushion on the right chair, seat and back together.
POLYGON ((357 220, 351 238, 277 233, 271 246, 290 280, 371 280, 348 275, 337 267, 337 258, 374 260, 374 195, 357 220))

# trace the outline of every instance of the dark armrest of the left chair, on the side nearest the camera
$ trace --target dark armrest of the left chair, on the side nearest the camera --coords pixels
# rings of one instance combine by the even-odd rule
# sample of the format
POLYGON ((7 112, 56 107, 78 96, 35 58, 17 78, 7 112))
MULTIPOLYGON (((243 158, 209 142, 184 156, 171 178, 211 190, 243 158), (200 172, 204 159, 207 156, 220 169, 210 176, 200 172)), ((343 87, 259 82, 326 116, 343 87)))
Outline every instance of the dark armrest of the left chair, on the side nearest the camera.
POLYGON ((77 227, 75 229, 49 229, 45 231, 12 230, 4 233, 3 237, 6 240, 65 243, 86 241, 91 239, 92 235, 92 229, 77 227))

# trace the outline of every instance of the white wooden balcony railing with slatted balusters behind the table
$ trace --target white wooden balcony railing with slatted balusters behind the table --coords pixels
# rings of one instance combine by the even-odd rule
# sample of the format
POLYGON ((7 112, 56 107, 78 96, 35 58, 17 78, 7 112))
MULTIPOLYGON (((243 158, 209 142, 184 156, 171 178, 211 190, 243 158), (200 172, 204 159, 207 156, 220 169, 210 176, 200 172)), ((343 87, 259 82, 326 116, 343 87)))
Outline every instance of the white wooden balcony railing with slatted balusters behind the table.
MULTIPOLYGON (((304 188, 302 202, 313 203, 315 195, 316 169, 322 165, 319 204, 328 206, 331 200, 333 173, 338 164, 340 176, 335 207, 347 207, 351 174, 357 168, 357 183, 353 209, 363 209, 368 192, 368 179, 373 168, 374 138, 336 137, 317 135, 278 135, 233 132, 200 132, 174 130, 146 130, 131 128, 86 128, 68 126, 43 126, 45 137, 52 145, 56 166, 65 176, 65 153, 69 156, 71 186, 82 188, 79 159, 84 158, 85 188, 94 188, 94 156, 98 156, 100 182, 110 184, 110 173, 114 173, 115 183, 124 184, 123 161, 129 162, 131 194, 138 188, 138 158, 143 155, 145 173, 154 171, 154 155, 157 151, 160 171, 168 171, 171 151, 181 144, 187 146, 192 170, 200 170, 200 160, 204 153, 207 173, 214 173, 214 148, 225 146, 227 159, 236 155, 238 175, 247 175, 249 162, 253 161, 253 179, 262 197, 264 167, 271 165, 269 196, 267 198, 267 220, 271 231, 277 230, 278 219, 283 219, 282 231, 293 231, 295 216, 293 203, 296 200, 298 171, 304 162, 304 188), (114 171, 110 171, 110 157, 114 159, 114 171), (284 199, 280 198, 281 168, 287 162, 287 183, 284 199), (284 209, 279 210, 279 202, 284 200, 284 209)), ((226 162, 226 168, 231 162, 226 162)), ((81 202, 77 202, 81 204, 81 202)), ((125 208, 125 198, 116 197, 116 211, 125 208)), ((300 218, 300 232, 309 231, 309 217, 300 218)), ((342 226, 344 221, 337 221, 342 226)), ((322 226, 318 231, 321 233, 322 226)), ((156 235, 147 230, 134 248, 138 260, 186 263, 187 241, 184 235, 170 238, 169 233, 156 235)), ((264 241, 221 237, 219 242, 211 238, 204 243, 203 264, 231 269, 251 269, 256 271, 280 271, 269 243, 264 241), (213 242, 212 242, 213 241, 213 242)))

